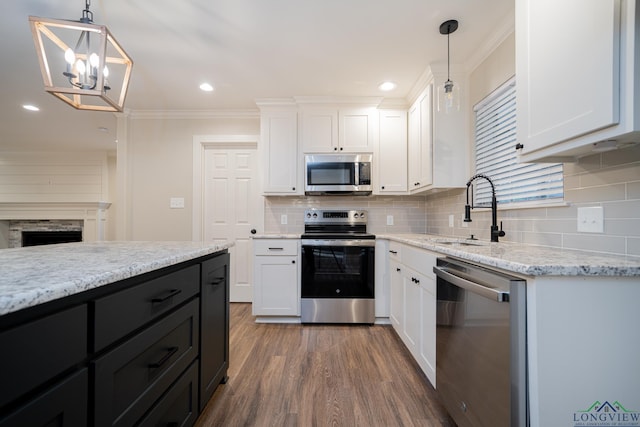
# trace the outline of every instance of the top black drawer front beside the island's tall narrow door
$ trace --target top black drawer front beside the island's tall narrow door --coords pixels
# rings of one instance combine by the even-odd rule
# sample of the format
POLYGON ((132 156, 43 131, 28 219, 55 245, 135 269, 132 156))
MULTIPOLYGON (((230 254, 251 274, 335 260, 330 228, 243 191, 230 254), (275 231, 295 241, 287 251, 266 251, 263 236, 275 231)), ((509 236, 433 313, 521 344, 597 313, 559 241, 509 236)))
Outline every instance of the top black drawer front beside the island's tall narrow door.
POLYGON ((192 265, 93 301, 92 350, 102 350, 199 291, 200 266, 192 265))

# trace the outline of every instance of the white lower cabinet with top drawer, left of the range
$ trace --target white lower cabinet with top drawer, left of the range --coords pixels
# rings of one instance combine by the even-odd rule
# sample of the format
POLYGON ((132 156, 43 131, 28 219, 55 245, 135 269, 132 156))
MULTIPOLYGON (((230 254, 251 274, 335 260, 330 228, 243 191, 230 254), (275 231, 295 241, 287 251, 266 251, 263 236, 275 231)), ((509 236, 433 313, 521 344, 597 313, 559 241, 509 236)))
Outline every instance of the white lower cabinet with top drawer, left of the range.
POLYGON ((299 240, 256 239, 253 253, 253 315, 299 316, 299 240))

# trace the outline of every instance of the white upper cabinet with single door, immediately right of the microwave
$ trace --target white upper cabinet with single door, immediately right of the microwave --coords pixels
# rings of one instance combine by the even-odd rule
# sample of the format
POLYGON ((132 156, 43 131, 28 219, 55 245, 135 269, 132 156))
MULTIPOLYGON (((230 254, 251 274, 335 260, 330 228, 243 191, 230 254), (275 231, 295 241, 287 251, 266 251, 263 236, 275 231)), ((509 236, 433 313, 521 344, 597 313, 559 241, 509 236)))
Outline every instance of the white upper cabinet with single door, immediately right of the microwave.
POLYGON ((407 111, 380 110, 374 194, 407 193, 407 111))

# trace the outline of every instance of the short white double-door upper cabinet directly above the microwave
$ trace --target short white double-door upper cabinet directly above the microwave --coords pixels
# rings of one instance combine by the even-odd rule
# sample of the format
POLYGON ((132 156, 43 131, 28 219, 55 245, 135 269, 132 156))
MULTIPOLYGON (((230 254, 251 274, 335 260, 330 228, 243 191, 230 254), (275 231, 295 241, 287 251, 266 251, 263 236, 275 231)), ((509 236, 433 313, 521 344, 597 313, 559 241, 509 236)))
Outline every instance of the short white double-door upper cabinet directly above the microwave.
POLYGON ((377 141, 375 108, 303 106, 300 140, 304 153, 372 153, 377 141))

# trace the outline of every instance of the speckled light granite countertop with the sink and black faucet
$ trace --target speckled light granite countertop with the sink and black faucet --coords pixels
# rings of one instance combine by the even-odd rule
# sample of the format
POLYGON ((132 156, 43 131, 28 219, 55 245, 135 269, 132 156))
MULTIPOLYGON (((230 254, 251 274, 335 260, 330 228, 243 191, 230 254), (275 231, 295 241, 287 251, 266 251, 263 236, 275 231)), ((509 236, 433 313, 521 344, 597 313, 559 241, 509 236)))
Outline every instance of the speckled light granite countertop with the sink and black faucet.
POLYGON ((528 276, 640 277, 640 257, 425 234, 377 234, 376 237, 528 276))

